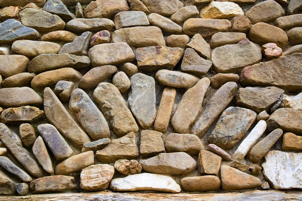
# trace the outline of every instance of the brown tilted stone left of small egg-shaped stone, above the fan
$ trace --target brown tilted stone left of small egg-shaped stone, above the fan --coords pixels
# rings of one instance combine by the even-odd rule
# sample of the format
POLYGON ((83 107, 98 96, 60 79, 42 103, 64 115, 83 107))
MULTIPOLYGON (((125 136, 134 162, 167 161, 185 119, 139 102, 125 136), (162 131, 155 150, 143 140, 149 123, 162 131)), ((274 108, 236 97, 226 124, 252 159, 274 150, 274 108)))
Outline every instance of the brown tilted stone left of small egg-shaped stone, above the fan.
POLYGON ((83 89, 95 88, 99 83, 109 79, 117 68, 112 65, 105 65, 92 68, 80 80, 79 87, 83 89))

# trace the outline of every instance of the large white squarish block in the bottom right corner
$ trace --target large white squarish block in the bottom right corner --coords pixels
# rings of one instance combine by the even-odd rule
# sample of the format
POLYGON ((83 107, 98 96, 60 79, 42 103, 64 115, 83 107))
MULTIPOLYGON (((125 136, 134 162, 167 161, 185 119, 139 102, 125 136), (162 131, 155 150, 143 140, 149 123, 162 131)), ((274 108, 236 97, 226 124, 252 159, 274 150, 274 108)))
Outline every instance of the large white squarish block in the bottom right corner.
POLYGON ((270 151, 262 164, 263 174, 274 189, 302 188, 301 153, 270 151))

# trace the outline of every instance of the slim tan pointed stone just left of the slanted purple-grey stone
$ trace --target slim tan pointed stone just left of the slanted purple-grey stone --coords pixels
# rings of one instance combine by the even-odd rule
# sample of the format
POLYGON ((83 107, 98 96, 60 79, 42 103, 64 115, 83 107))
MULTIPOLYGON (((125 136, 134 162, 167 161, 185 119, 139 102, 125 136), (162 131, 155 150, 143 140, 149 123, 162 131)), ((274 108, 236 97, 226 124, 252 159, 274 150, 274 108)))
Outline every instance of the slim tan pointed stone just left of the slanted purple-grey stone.
POLYGON ((45 170, 45 172, 49 174, 53 174, 54 170, 53 170, 52 162, 41 136, 39 136, 35 141, 32 150, 33 150, 33 154, 35 155, 36 159, 39 161, 40 165, 45 170))

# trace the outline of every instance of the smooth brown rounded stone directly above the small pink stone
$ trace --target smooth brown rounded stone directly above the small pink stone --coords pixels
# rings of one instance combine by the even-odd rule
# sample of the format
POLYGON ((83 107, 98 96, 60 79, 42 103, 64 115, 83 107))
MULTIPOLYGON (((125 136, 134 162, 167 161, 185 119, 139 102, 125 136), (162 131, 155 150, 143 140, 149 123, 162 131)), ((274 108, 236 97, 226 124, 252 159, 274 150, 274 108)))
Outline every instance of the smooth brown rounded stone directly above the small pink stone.
POLYGON ((276 43, 282 49, 288 43, 287 35, 282 29, 263 22, 253 25, 249 32, 249 39, 260 45, 276 43))

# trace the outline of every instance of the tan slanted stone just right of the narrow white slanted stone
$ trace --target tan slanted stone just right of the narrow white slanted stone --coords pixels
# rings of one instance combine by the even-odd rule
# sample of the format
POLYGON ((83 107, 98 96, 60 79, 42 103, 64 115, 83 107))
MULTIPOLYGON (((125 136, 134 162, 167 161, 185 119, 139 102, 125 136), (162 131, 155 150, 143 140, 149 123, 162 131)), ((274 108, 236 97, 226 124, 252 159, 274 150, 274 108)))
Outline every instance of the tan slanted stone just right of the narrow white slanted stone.
MULTIPOLYGON (((265 154, 270 150, 272 146, 277 142, 277 140, 282 136, 283 131, 281 129, 276 129, 258 142, 251 149, 248 154, 248 158, 252 163, 258 163, 265 154)), ((284 139, 284 137, 283 137, 284 139)))

